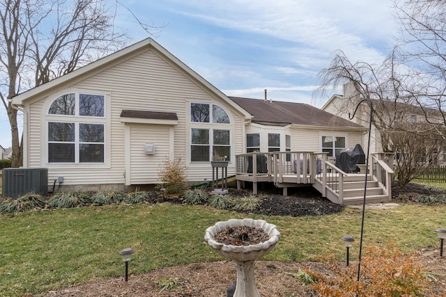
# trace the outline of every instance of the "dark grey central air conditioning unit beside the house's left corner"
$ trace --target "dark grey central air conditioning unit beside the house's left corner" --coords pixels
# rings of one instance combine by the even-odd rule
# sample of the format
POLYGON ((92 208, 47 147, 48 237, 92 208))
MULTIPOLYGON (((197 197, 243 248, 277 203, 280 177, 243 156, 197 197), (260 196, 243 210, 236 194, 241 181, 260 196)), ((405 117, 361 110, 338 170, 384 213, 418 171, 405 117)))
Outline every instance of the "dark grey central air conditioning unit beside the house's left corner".
POLYGON ((26 193, 48 195, 48 168, 3 168, 3 197, 17 198, 26 193))

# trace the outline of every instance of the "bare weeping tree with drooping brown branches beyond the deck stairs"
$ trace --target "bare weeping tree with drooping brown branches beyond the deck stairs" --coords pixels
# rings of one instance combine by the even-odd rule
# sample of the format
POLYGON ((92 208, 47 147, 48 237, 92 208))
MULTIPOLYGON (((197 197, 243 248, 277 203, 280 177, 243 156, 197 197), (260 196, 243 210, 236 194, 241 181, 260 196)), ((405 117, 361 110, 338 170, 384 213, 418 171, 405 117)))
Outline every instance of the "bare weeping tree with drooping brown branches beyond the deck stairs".
MULTIPOLYGON (((372 124, 378 131, 376 141, 382 145, 383 152, 397 152, 401 156, 397 159, 397 177, 402 186, 429 168, 429 156, 438 154, 443 147, 445 127, 438 110, 415 105, 417 99, 404 88, 408 77, 399 76, 397 70, 401 64, 395 62, 394 54, 395 51, 381 65, 370 65, 351 63, 342 51, 338 51, 330 67, 321 70, 319 77, 322 90, 329 86, 337 88, 344 83, 347 84, 345 89, 350 89, 337 106, 339 112, 354 111, 364 98, 372 100, 372 124), (420 114, 424 115, 423 122, 411 118, 420 114)), ((358 111, 358 122, 367 127, 368 106, 360 106, 358 111)))

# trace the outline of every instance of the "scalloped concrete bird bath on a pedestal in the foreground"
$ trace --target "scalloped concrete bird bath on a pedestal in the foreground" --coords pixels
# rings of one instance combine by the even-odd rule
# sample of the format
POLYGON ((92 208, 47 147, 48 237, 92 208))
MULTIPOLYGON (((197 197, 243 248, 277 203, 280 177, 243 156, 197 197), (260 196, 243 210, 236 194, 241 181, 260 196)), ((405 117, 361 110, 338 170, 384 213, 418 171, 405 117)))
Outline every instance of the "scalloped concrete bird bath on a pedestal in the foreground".
POLYGON ((224 222, 217 222, 213 227, 206 229, 204 239, 209 246, 220 255, 231 259, 236 263, 237 270, 237 286, 233 297, 260 297, 254 282, 254 263, 256 259, 266 255, 279 241, 280 233, 275 225, 266 223, 266 220, 253 220, 252 218, 244 218, 238 220, 232 218, 224 222), (269 239, 258 244, 250 244, 248 246, 226 245, 215 241, 215 236, 219 232, 226 230, 228 227, 247 226, 262 229, 268 234, 269 239))

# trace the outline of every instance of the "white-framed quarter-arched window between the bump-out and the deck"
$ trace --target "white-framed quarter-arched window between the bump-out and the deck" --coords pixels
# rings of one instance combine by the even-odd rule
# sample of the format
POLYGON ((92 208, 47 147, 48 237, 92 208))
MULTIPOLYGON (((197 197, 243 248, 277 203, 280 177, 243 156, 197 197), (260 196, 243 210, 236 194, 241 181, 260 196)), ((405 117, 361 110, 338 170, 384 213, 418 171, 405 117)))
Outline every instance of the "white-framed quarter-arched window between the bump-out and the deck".
POLYGON ((190 104, 190 161, 213 161, 231 158, 231 123, 229 115, 216 104, 190 104), (206 123, 206 125, 203 125, 206 123))

